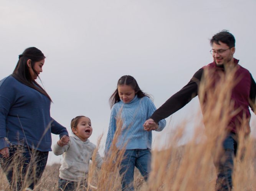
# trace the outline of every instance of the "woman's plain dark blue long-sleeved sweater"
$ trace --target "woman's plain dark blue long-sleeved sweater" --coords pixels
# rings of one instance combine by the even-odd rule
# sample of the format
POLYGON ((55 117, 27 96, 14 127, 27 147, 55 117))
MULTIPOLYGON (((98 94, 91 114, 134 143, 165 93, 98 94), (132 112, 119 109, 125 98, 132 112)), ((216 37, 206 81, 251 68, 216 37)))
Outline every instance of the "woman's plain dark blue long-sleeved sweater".
POLYGON ((50 116, 51 101, 12 76, 0 81, 0 149, 24 145, 51 151, 51 133, 68 135, 50 116), (7 140, 7 139, 8 140, 7 140))

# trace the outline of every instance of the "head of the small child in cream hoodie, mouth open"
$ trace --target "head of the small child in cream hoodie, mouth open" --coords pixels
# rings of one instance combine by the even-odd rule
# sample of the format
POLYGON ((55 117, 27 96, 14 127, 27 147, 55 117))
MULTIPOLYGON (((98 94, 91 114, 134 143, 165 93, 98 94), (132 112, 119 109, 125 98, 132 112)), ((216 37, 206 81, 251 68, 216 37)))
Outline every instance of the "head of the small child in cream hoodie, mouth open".
POLYGON ((72 128, 72 131, 81 141, 86 141, 92 134, 91 120, 88 117, 81 117, 78 121, 76 128, 72 128))

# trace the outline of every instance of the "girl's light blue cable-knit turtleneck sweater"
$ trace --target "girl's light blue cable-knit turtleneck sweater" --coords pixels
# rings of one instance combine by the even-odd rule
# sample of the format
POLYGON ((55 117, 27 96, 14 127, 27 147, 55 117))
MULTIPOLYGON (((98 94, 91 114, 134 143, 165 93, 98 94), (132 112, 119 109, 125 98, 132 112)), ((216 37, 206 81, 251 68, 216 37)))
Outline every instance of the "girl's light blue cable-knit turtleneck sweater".
MULTIPOLYGON (((117 127, 117 118, 122 119, 122 132, 118 137, 116 146, 118 149, 151 149, 152 131, 145 131, 143 124, 156 110, 155 105, 149 97, 134 99, 129 103, 122 100, 114 104, 111 110, 109 129, 107 133, 105 155, 110 149, 117 127)), ((159 121, 159 128, 162 131, 166 125, 165 120, 159 121)))

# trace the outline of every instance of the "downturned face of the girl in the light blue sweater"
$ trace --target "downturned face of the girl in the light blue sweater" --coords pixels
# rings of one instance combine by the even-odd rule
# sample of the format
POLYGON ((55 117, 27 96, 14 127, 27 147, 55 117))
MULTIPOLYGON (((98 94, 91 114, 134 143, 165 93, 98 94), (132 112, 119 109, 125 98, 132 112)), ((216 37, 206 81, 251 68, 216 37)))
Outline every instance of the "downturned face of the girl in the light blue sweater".
POLYGON ((117 90, 120 99, 126 104, 133 100, 135 97, 135 90, 132 89, 132 86, 119 85, 117 86, 117 90))

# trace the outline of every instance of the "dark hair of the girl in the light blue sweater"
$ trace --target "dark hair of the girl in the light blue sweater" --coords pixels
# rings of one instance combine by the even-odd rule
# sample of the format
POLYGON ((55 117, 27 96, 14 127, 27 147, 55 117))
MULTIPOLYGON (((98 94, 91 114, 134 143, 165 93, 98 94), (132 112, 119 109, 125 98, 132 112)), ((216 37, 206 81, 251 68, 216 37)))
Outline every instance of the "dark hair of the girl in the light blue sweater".
MULTIPOLYGON (((131 86, 132 89, 134 89, 134 91, 135 91, 135 95, 137 95, 137 97, 139 97, 139 98, 142 98, 142 97, 145 97, 145 96, 150 97, 148 94, 141 91, 137 81, 132 76, 129 76, 129 75, 122 76, 117 82, 117 87, 120 86, 120 85, 131 86)), ((113 105, 116 104, 119 101, 120 101, 120 97, 119 97, 119 94, 118 94, 118 89, 116 88, 116 91, 114 91, 114 93, 109 98, 110 107, 112 108, 113 105)))

